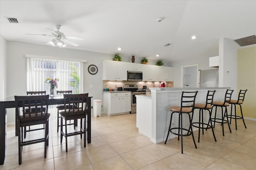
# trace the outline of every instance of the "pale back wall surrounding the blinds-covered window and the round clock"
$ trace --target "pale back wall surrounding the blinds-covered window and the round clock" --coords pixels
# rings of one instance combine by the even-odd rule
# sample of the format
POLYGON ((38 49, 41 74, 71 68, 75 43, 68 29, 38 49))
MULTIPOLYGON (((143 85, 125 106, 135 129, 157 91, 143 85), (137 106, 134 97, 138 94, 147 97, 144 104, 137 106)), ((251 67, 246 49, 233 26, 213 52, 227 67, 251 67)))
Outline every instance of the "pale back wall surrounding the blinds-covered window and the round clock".
MULTIPOLYGON (((2 53, 2 48, 1 48, 2 53)), ((111 60, 113 55, 94 53, 89 51, 57 48, 48 45, 38 45, 19 41, 7 41, 7 95, 14 96, 26 94, 26 54, 53 56, 62 58, 84 59, 87 60, 84 68, 84 92, 93 96, 92 99, 102 100, 102 61, 111 60), (88 73, 88 66, 95 64, 98 66, 98 73, 91 75, 88 73), (90 88, 93 85, 93 88, 90 88)), ((15 121, 13 109, 8 109, 7 122, 15 121), (9 113, 10 112, 10 113, 9 113), (12 113, 13 112, 13 113, 12 113)))

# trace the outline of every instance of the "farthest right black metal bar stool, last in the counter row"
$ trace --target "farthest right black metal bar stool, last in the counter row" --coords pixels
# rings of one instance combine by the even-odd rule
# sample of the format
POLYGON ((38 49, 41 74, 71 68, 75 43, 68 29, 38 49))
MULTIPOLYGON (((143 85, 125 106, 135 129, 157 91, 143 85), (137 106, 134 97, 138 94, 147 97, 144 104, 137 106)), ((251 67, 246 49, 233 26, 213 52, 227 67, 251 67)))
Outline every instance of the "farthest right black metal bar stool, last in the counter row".
MULTIPOLYGON (((229 104, 231 104, 231 113, 230 115, 226 115, 226 117, 230 118, 230 124, 231 124, 231 119, 242 119, 244 122, 244 116, 243 116, 243 112, 242 112, 242 106, 241 104, 243 104, 244 102, 244 97, 245 97, 245 93, 247 92, 246 90, 240 90, 239 94, 238 94, 238 100, 230 100, 230 102, 228 102, 229 104), (235 115, 232 115, 232 106, 234 105, 235 107, 235 115), (236 115, 236 105, 240 106, 240 110, 241 110, 241 116, 236 115)), ((246 127, 245 122, 244 122, 244 127, 246 127)), ((237 126, 236 126, 236 130, 237 130, 237 126)))

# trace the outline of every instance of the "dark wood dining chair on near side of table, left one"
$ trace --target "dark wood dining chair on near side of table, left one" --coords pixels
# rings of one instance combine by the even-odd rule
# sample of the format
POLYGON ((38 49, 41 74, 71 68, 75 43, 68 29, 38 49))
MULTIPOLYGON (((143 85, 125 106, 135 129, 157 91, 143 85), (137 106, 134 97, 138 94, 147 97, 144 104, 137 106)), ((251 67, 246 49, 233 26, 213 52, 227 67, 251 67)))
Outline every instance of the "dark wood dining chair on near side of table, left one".
POLYGON ((18 152, 19 152, 19 165, 22 164, 22 149, 23 146, 31 145, 35 143, 44 142, 44 158, 46 158, 46 146, 48 146, 48 136, 49 136, 49 117, 48 113, 48 102, 49 95, 42 96, 14 96, 15 98, 15 107, 16 107, 16 117, 18 125, 18 152), (43 107, 45 106, 45 111, 43 107), (29 109, 25 112, 25 107, 29 109), (31 109, 34 107, 35 109, 31 109), (21 114, 22 108, 22 114, 21 114), (40 125, 45 124, 44 137, 33 140, 23 141, 23 127, 30 125, 40 125))

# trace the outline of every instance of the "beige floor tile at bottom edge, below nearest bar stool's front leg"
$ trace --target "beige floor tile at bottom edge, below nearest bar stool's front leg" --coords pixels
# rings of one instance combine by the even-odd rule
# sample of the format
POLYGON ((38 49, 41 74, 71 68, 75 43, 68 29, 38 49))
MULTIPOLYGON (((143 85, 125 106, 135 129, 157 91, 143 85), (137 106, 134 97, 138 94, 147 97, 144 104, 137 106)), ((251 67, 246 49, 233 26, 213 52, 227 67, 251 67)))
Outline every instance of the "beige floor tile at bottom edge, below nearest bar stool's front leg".
POLYGON ((202 170, 205 168, 205 166, 198 164, 181 153, 176 153, 160 161, 173 170, 202 170))

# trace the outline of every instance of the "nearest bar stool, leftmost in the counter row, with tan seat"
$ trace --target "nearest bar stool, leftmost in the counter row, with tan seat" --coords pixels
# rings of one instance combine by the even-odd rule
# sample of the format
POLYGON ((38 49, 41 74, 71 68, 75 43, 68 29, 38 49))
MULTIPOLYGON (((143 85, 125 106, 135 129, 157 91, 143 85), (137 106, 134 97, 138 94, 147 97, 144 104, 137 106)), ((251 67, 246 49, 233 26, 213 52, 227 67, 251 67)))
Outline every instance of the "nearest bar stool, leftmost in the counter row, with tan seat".
MULTIPOLYGON (((178 140, 180 140, 181 137, 181 153, 183 154, 183 136, 190 136, 192 135, 193 141, 194 141, 194 145, 196 147, 196 142, 194 139, 194 134, 193 134, 193 130, 192 130, 192 124, 191 124, 191 117, 190 117, 190 113, 194 112, 194 105, 195 105, 195 100, 196 100, 196 94, 198 93, 198 91, 196 92, 183 92, 182 91, 182 96, 181 96, 181 104, 180 106, 173 106, 170 107, 170 111, 172 111, 171 113, 171 119, 170 119, 170 126, 168 129, 168 134, 165 140, 165 143, 167 142, 169 133, 172 133, 174 135, 178 135, 178 140), (190 105, 190 103, 193 103, 190 105), (179 113, 179 127, 173 127, 171 128, 172 125, 172 115, 173 113, 179 113), (188 114, 189 117, 189 129, 185 129, 183 128, 182 125, 182 114, 186 113, 188 114), (178 129, 178 133, 175 133, 173 130, 178 129), (183 134, 183 130, 186 131, 186 134, 183 134)), ((197 149, 197 147, 196 147, 197 149)))

